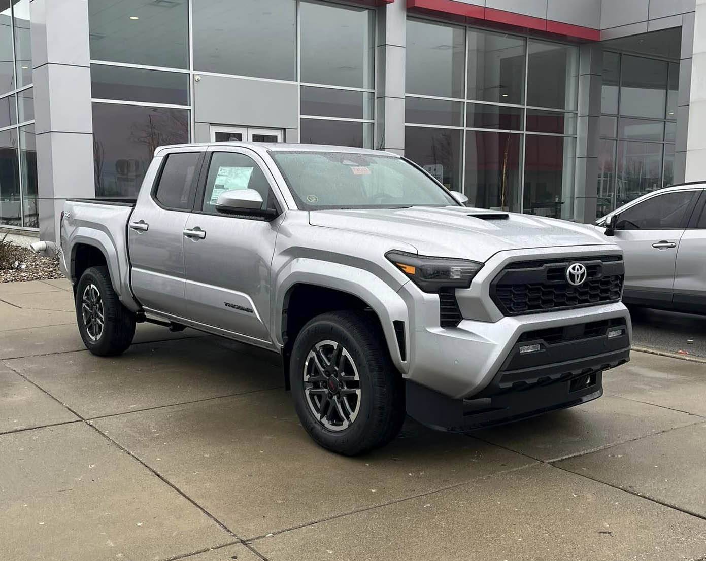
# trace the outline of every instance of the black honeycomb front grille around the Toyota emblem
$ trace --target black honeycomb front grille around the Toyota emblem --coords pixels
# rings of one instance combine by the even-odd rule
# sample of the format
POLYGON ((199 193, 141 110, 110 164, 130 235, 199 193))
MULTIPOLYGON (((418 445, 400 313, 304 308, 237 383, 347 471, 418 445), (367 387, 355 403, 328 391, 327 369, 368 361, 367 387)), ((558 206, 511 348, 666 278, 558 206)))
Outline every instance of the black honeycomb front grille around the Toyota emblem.
POLYGON ((503 315, 567 310, 619 301, 625 267, 619 255, 510 263, 491 284, 491 298, 503 315), (582 263, 586 280, 572 286, 566 269, 582 263))

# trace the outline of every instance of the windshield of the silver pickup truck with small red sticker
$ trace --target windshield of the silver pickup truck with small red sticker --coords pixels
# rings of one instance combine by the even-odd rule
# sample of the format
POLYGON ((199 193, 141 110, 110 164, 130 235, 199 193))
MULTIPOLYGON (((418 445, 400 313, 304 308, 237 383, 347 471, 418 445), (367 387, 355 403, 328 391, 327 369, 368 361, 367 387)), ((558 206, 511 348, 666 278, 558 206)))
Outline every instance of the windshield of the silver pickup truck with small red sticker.
POLYGON ((346 152, 270 152, 304 210, 458 206, 409 162, 346 152))

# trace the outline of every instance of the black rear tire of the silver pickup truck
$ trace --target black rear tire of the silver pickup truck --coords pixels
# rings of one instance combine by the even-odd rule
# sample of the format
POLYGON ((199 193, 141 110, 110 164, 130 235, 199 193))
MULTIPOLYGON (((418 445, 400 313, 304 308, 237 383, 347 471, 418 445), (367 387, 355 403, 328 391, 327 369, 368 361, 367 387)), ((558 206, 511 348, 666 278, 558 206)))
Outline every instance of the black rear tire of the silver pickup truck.
POLYGON ((122 305, 110 282, 108 267, 89 267, 83 272, 76 286, 76 321, 86 349, 97 356, 116 356, 131 345, 135 336, 135 315, 122 305), (94 288, 91 288, 94 287, 94 288), (95 290, 94 290, 95 289, 95 290), (88 291, 88 293, 87 293, 88 291), (90 296, 98 293, 97 306, 90 296), (85 300, 85 298, 87 298, 85 300), (84 303, 93 310, 84 318, 84 303), (102 309, 102 329, 99 330, 102 309), (90 315, 93 313, 93 315, 90 315), (97 320, 98 323, 95 323, 97 320), (88 325, 87 325, 88 324, 88 325), (100 331, 100 333, 99 333, 100 331))

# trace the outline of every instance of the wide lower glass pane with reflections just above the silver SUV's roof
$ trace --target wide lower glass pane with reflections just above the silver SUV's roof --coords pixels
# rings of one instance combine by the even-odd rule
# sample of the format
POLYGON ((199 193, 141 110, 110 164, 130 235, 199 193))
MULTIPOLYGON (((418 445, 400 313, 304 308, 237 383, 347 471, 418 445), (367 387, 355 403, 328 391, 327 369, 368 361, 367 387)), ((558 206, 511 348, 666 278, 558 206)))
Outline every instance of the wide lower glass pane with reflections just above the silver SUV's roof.
POLYGON ((662 186, 662 144, 618 142, 616 207, 662 186))

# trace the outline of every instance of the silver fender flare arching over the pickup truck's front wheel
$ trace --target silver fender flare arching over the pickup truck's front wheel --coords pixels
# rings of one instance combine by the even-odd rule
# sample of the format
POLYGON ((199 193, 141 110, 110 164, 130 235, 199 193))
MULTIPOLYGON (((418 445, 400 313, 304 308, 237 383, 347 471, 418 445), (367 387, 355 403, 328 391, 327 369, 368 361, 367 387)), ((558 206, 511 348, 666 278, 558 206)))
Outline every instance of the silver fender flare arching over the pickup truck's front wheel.
MULTIPOLYGON (((393 321, 405 322, 405 342, 409 345, 409 313, 405 301, 380 277, 369 271, 342 263, 295 258, 278 272, 275 280, 275 305, 273 306, 272 318, 273 338, 277 345, 284 346, 282 310, 285 307, 285 298, 289 290, 297 284, 310 284, 346 292, 364 301, 380 320, 393 363, 403 375, 407 372, 408 364, 400 357, 393 325, 393 321)), ((409 352, 407 352, 407 356, 409 356, 409 352)))

